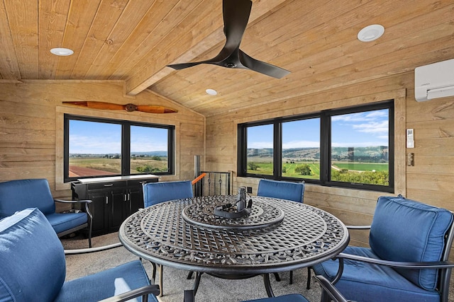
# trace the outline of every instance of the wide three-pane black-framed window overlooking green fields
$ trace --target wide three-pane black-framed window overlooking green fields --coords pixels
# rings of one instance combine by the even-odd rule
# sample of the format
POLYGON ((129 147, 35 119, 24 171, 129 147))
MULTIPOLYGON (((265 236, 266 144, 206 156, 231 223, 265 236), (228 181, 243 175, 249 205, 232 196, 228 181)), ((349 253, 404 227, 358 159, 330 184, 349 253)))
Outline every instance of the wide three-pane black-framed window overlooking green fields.
POLYGON ((394 102, 238 124, 238 175, 394 192, 394 102))

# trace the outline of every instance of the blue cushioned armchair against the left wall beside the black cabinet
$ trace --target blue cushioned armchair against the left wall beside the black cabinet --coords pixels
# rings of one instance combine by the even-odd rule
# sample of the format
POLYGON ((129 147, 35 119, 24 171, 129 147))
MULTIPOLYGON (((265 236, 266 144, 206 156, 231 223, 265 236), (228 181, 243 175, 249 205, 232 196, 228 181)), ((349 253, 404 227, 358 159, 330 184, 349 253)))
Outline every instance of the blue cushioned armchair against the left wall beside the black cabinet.
POLYGON ((16 211, 38 208, 50 222, 58 237, 87 228, 89 248, 92 248, 91 200, 67 201, 53 199, 46 179, 11 180, 0 182, 0 219, 16 211), (79 213, 55 213, 55 202, 81 204, 79 213))

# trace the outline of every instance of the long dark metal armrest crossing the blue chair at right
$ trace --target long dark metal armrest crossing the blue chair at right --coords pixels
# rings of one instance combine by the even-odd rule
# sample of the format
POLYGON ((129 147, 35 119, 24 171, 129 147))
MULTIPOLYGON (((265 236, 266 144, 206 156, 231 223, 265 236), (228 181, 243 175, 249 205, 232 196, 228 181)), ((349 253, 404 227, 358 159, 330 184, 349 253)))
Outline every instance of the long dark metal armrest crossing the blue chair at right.
POLYGON ((454 267, 453 262, 447 261, 432 261, 432 262, 397 262, 382 259, 375 259, 370 257, 350 255, 341 252, 336 258, 355 260, 360 262, 368 262, 376 265, 386 265, 388 267, 400 267, 405 269, 449 269, 454 267))

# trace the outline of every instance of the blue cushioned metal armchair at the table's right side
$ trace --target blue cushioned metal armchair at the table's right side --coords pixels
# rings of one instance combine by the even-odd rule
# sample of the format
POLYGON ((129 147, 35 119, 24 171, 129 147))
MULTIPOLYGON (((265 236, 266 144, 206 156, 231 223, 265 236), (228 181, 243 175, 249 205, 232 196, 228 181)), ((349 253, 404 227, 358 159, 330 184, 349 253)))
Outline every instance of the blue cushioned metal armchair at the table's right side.
POLYGON ((402 196, 379 197, 370 248, 349 246, 313 267, 353 301, 448 301, 453 213, 402 196), (338 279, 338 280, 337 280, 338 279))

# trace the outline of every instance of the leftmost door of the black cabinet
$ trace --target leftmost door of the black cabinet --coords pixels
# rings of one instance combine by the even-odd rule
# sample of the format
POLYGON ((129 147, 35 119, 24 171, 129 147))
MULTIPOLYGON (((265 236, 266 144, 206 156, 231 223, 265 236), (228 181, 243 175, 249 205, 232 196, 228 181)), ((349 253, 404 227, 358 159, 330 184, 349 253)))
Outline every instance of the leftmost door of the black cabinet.
POLYGON ((107 216, 107 204, 109 202, 108 196, 104 191, 89 192, 88 198, 92 200, 89 204, 89 209, 93 215, 92 232, 93 235, 99 235, 106 233, 107 216))

